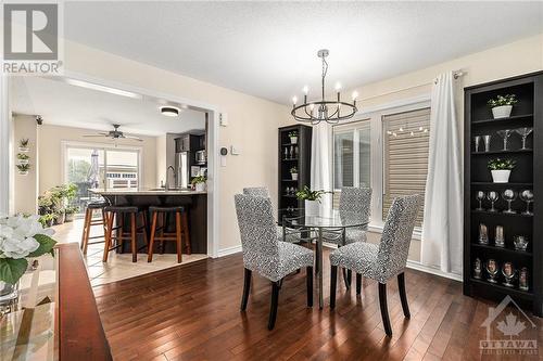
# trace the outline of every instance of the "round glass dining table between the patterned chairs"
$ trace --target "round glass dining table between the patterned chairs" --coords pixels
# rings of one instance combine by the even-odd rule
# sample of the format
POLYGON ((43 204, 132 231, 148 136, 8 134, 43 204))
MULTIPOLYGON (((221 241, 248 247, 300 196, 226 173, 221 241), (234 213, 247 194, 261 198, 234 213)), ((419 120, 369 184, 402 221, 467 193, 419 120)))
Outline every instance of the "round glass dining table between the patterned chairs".
POLYGON ((367 229, 367 216, 331 208, 320 208, 307 214, 302 208, 283 208, 278 210, 278 223, 282 225, 283 240, 298 234, 302 242, 315 243, 315 275, 318 283, 318 304, 324 307, 323 296, 323 244, 332 241, 334 244, 345 243, 345 231, 350 228, 367 229))

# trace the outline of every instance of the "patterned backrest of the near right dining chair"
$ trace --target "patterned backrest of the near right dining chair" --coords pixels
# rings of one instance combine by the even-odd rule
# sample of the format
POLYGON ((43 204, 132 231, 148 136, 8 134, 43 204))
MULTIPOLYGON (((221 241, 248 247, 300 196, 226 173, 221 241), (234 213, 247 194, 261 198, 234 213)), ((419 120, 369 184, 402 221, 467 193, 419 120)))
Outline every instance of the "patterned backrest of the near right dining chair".
POLYGON ((405 269, 413 229, 421 205, 422 196, 418 194, 397 197, 392 203, 377 256, 379 282, 386 282, 405 269))

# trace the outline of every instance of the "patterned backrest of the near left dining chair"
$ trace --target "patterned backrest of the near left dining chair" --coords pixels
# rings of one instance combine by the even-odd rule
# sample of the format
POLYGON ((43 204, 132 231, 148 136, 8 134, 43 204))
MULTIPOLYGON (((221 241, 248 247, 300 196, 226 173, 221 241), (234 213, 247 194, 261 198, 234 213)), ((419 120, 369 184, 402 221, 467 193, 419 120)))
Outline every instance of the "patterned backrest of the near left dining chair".
MULTIPOLYGON (((272 202, 262 196, 236 194, 243 265, 251 270, 279 262, 279 244, 272 202)), ((267 270, 269 271, 269 270, 267 270)))

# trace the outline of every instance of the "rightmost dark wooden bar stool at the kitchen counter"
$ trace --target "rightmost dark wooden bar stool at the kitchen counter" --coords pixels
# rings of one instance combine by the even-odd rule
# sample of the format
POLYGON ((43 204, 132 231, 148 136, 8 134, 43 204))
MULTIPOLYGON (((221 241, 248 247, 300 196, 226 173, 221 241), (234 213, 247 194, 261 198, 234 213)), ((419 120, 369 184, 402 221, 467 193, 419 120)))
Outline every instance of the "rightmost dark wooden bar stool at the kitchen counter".
POLYGON ((161 241, 161 249, 164 252, 164 241, 175 241, 177 243, 177 263, 181 262, 181 240, 185 238, 185 249, 187 255, 190 255, 190 237, 189 224, 187 220, 187 211, 182 206, 174 207, 149 207, 151 212, 151 241, 149 243, 148 262, 153 260, 153 245, 154 241, 161 241), (164 230, 167 227, 166 215, 175 214, 175 232, 166 233, 164 230), (157 219, 161 216, 161 225, 157 228, 157 219), (159 236, 155 233, 160 232, 159 236))

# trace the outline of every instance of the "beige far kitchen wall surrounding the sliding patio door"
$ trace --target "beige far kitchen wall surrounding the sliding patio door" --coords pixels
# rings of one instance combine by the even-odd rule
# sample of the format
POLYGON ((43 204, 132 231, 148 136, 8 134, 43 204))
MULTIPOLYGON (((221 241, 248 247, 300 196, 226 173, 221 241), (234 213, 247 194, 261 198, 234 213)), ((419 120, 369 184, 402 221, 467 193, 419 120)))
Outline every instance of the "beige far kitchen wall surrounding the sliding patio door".
MULTIPOLYGON (((94 130, 60 127, 43 124, 38 127, 38 153, 39 162, 39 192, 40 194, 48 189, 64 183, 62 179, 62 142, 81 142, 87 144, 97 144, 113 146, 113 143, 103 138, 97 141, 97 138, 85 138, 83 134, 92 133, 94 130)), ((130 140, 118 140, 118 145, 141 147, 141 185, 154 188, 156 184, 156 138, 138 136, 143 139, 142 142, 130 140)))

